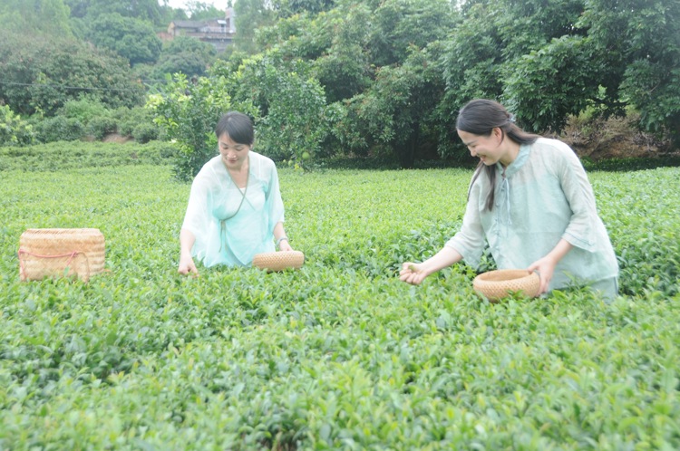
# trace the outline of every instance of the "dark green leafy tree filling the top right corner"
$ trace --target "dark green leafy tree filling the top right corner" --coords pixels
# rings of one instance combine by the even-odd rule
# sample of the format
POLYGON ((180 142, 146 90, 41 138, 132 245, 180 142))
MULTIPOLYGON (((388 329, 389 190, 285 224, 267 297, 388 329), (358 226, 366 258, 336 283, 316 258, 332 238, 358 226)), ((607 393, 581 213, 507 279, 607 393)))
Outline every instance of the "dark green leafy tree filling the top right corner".
POLYGON ((586 0, 581 24, 602 67, 601 104, 633 106, 643 130, 665 131, 680 147, 680 3, 586 0))

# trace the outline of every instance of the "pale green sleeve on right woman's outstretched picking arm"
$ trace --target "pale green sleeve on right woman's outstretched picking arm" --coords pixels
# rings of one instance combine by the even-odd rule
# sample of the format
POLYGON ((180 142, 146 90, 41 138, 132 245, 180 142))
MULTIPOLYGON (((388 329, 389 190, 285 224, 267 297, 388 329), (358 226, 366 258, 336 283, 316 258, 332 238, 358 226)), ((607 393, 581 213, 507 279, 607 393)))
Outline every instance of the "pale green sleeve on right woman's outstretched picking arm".
POLYGON ((484 251, 484 230, 481 226, 480 197, 481 183, 480 178, 477 178, 470 190, 468 205, 465 207, 465 216, 462 217, 461 230, 446 242, 446 246, 455 249, 462 255, 465 263, 470 264, 472 267, 480 265, 481 254, 484 251))

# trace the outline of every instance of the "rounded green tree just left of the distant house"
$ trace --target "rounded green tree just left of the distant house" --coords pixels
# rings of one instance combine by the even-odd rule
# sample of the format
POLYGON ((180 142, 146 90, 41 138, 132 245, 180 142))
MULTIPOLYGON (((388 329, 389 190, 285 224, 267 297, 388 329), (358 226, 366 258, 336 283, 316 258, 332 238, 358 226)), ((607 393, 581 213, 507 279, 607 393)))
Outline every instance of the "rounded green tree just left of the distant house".
POLYGON ((111 49, 131 64, 158 61, 162 48, 149 22, 118 13, 97 16, 89 26, 87 37, 97 47, 111 49))

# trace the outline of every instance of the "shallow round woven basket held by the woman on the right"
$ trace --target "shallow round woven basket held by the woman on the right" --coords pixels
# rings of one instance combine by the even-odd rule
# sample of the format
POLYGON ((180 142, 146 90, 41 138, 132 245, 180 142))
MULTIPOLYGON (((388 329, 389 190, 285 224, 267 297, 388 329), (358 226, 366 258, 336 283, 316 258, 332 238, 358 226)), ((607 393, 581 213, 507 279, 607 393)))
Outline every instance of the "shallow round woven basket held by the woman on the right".
POLYGON ((533 298, 539 295, 540 277, 525 269, 499 269, 481 273, 472 281, 472 287, 491 302, 518 292, 533 298))

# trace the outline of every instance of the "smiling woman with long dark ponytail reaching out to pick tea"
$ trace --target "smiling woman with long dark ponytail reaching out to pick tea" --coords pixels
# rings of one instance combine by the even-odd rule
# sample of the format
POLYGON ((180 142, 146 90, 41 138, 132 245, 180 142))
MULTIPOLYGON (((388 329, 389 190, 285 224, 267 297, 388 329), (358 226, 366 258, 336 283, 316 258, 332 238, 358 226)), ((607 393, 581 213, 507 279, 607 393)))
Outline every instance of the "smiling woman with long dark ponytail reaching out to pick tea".
POLYGON ((616 297, 617 258, 574 151, 521 130, 496 101, 469 102, 456 129, 480 158, 461 230, 432 258, 404 263, 400 279, 419 284, 461 260, 477 266, 488 244, 499 269, 539 273, 540 293, 578 281, 616 297))

